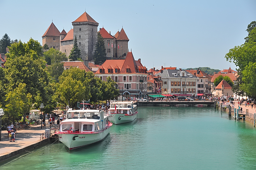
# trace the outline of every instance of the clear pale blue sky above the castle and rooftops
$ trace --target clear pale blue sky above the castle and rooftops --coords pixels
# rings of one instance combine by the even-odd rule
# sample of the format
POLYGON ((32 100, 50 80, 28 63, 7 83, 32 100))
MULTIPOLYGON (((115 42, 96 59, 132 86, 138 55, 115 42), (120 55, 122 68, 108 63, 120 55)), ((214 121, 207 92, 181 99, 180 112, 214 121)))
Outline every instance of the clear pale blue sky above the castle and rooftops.
POLYGON ((225 59, 244 43, 247 26, 256 20, 255 0, 180 1, 18 1, 1 0, 0 37, 42 44, 52 20, 61 32, 86 12, 112 35, 122 26, 135 60, 148 69, 165 67, 235 69, 225 59))

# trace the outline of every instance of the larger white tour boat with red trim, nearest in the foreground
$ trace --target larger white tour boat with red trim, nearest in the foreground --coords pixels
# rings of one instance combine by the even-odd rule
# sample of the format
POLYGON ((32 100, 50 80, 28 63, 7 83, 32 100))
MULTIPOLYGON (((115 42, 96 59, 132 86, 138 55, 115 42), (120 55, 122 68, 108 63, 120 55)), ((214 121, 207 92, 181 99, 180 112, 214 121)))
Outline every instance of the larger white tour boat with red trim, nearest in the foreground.
POLYGON ((99 110, 72 110, 60 122, 59 140, 74 150, 105 139, 109 134, 110 114, 99 110))

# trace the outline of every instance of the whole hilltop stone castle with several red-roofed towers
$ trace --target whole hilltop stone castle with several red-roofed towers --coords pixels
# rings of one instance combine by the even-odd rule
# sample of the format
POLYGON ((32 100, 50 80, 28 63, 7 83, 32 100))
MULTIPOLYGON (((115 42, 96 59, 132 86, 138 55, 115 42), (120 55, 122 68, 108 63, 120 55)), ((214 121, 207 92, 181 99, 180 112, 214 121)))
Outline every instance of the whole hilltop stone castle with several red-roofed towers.
MULTIPOLYGON (((73 48, 73 42, 76 37, 78 46, 81 50, 81 58, 84 61, 93 61, 93 53, 97 43, 98 25, 90 15, 84 12, 78 19, 72 22, 73 29, 68 33, 63 29, 60 31, 53 24, 42 36, 42 45, 47 44, 49 48, 54 48, 69 56, 73 48)), ((111 35, 102 27, 99 29, 106 48, 106 57, 124 58, 128 53, 128 37, 124 29, 111 35)))

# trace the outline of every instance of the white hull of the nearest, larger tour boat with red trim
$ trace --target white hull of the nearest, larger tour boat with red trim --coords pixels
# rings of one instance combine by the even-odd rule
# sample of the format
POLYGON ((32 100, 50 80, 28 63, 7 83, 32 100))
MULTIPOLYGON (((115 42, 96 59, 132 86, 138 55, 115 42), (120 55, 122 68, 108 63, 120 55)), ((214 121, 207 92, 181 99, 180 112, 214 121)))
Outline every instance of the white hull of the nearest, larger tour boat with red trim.
POLYGON ((69 150, 74 150, 105 139, 109 132, 110 126, 98 133, 57 133, 57 135, 59 135, 59 140, 67 146, 69 150))

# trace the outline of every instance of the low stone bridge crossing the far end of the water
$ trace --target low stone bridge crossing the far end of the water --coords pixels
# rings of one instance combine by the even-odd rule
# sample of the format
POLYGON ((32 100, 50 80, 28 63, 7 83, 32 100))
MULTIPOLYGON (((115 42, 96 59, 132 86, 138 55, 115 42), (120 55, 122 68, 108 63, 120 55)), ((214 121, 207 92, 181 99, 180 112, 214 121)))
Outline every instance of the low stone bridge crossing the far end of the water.
POLYGON ((162 105, 214 106, 214 101, 149 101, 149 102, 135 102, 135 105, 137 105, 137 106, 162 106, 162 105))

